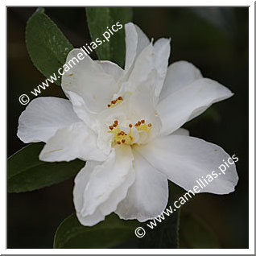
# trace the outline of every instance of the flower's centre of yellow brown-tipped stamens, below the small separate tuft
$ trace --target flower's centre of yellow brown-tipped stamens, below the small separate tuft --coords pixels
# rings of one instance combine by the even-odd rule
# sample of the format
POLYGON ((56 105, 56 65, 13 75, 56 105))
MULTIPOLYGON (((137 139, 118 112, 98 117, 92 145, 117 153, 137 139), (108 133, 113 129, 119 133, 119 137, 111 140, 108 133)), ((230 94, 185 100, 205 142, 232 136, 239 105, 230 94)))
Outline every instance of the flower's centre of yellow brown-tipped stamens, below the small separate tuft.
POLYGON ((115 146, 116 144, 133 145, 137 143, 139 138, 150 133, 151 126, 151 123, 147 124, 145 120, 141 120, 135 123, 134 126, 130 123, 128 127, 121 128, 118 125, 118 120, 115 120, 113 125, 109 126, 109 133, 114 134, 112 146, 115 146))

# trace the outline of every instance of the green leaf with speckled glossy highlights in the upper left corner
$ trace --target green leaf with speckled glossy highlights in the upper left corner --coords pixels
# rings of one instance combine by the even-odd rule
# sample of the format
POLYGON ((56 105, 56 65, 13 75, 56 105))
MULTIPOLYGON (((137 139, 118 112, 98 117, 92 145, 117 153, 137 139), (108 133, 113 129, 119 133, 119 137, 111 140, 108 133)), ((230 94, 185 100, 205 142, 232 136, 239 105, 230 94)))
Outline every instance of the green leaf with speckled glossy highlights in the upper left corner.
MULTIPOLYGON (((43 11, 43 8, 39 8, 27 21, 27 52, 35 67, 44 76, 50 77, 56 73, 57 78, 58 68, 65 64, 68 52, 73 47, 56 24, 52 22, 52 19, 43 11)), ((56 85, 60 85, 60 78, 55 82, 56 85)))

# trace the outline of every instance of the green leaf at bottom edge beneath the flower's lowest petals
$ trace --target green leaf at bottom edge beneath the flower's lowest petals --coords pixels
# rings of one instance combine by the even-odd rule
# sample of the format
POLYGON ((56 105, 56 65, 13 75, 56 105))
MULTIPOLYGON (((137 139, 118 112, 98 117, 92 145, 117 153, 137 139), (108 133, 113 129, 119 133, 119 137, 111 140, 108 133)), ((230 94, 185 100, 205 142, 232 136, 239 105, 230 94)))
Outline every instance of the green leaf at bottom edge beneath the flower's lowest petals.
POLYGON ((138 221, 124 221, 111 214, 97 225, 85 227, 73 213, 56 230, 53 248, 113 248, 136 239, 134 229, 138 221))

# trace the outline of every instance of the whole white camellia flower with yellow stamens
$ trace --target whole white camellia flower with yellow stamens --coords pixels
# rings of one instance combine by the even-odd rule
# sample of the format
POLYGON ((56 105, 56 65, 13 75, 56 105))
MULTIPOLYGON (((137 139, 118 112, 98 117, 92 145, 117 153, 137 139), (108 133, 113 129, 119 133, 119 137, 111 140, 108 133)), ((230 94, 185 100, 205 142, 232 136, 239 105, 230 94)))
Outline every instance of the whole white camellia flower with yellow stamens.
MULTIPOLYGON (((124 70, 87 56, 62 77, 69 100, 39 97, 21 114, 19 138, 46 142, 39 159, 87 161, 73 191, 82 225, 113 212, 126 220, 157 217, 167 206, 167 180, 188 191, 229 158, 180 127, 233 93, 186 61, 167 67, 169 55, 169 39, 153 44, 128 23, 124 70)), ((233 192, 237 180, 233 164, 202 192, 233 192)))

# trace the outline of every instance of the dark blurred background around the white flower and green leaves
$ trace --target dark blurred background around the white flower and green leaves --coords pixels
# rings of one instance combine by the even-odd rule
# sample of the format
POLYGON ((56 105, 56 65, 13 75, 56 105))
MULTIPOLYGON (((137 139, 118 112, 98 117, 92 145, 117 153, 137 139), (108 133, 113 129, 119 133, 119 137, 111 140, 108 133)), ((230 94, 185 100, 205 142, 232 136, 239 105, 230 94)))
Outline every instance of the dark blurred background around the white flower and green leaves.
MULTIPOLYGON (((19 96, 45 80, 31 63, 25 43, 27 19, 35 8, 7 8, 7 154, 25 144, 16 135, 25 109, 19 96)), ((217 233, 222 248, 248 248, 248 8, 134 8, 133 22, 149 36, 171 37, 170 63, 188 60, 204 76, 234 93, 185 127, 237 155, 239 182, 225 196, 199 194, 186 208, 217 233)), ((46 8, 74 47, 90 43, 85 8, 46 8)), ((94 57, 96 57, 94 55, 94 57)), ((63 95, 51 85, 42 96, 63 95)), ((57 226, 73 212, 72 180, 34 192, 8 194, 7 247, 52 248, 57 226)))

